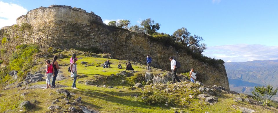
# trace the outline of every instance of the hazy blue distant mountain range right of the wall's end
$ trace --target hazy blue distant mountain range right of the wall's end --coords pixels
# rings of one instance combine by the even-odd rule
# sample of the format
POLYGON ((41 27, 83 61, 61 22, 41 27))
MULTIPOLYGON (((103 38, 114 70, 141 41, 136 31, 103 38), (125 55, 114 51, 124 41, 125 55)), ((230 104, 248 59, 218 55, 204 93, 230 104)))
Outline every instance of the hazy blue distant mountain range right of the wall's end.
MULTIPOLYGON (((278 60, 225 62, 230 90, 252 95, 254 86, 278 87, 278 60)), ((272 97, 278 100, 278 96, 272 97)))

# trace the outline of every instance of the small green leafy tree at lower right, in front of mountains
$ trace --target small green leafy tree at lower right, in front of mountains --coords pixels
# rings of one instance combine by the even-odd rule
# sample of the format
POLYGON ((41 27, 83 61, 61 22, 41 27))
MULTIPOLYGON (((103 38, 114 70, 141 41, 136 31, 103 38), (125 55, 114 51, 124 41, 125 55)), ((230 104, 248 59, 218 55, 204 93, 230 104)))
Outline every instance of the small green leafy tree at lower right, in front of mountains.
POLYGON ((255 89, 252 90, 252 94, 255 97, 263 99, 263 105, 269 105, 269 100, 271 97, 275 96, 277 93, 277 88, 273 91, 273 87, 270 85, 264 86, 255 86, 255 89))

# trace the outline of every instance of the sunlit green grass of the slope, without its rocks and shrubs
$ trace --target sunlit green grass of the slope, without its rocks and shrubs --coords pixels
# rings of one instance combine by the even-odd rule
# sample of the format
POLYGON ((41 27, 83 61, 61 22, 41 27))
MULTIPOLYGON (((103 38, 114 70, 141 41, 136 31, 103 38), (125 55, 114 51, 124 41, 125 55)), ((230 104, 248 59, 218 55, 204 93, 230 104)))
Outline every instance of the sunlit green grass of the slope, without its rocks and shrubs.
MULTIPOLYGON (((66 55, 69 55, 71 53, 63 53, 66 55)), ((100 55, 101 56, 101 55, 100 55)), ((90 109, 97 110, 101 113, 131 113, 131 112, 138 112, 138 113, 172 113, 175 110, 177 111, 184 111, 184 112, 216 112, 216 113, 222 113, 222 112, 232 112, 237 113, 239 112, 239 108, 234 109, 232 108, 232 105, 236 105, 249 108, 252 110, 255 110, 256 112, 278 112, 276 108, 272 107, 264 107, 260 105, 251 105, 247 102, 235 102, 233 101, 234 97, 236 97, 233 94, 219 92, 219 95, 217 96, 219 101, 215 103, 214 105, 209 105, 204 101, 204 99, 199 99, 197 93, 193 93, 192 89, 185 88, 176 90, 178 92, 171 92, 170 96, 176 96, 179 98, 185 98, 187 100, 186 105, 172 105, 172 106, 166 106, 164 104, 146 104, 143 101, 141 101, 138 98, 132 97, 132 94, 139 94, 141 95, 143 91, 141 88, 137 88, 136 90, 130 90, 129 84, 121 84, 121 80, 126 80, 130 77, 118 77, 115 76, 112 79, 106 79, 111 74, 117 74, 121 71, 124 71, 125 69, 118 69, 117 65, 119 62, 121 62, 122 66, 125 64, 126 61, 123 60, 115 60, 115 59, 109 59, 112 63, 110 66, 111 68, 102 68, 102 67, 96 67, 97 63, 104 63, 107 58, 94 58, 94 57, 86 57, 85 55, 78 55, 79 59, 77 61, 77 72, 78 75, 87 75, 88 77, 77 79, 77 81, 86 81, 86 80, 97 80, 97 77, 103 77, 101 80, 97 80, 97 84, 100 86, 105 84, 106 86, 113 86, 114 88, 103 88, 103 87, 97 87, 92 85, 85 85, 79 84, 76 82, 77 90, 71 89, 72 85, 72 78, 68 77, 70 73, 68 73, 67 68, 68 66, 61 66, 60 71, 62 71, 63 75, 68 77, 67 79, 56 81, 56 84, 60 85, 66 85, 69 86, 67 89, 71 93, 74 93, 72 95, 72 98, 70 98, 70 102, 73 102, 74 99, 77 97, 82 97, 82 104, 87 106, 90 109), (88 64, 94 64, 94 66, 87 66, 80 64, 81 61, 88 62, 88 64), (86 68, 86 69, 85 69, 86 68), (106 72, 104 72, 106 71, 106 72), (117 88, 117 89, 116 89, 117 88), (177 93, 177 94, 176 94, 177 93), (194 95, 195 98, 189 99, 188 95, 194 95)), ((51 58, 48 58, 51 59, 51 58)), ((46 60, 45 58, 37 59, 37 62, 43 62, 43 64, 37 64, 36 68, 32 70, 32 72, 38 71, 39 68, 44 67, 46 64, 44 62, 46 60)), ((59 64, 69 64, 70 58, 64 58, 59 59, 59 64)), ((132 62, 132 66, 135 69, 135 71, 138 71, 136 73, 146 73, 146 66, 141 64, 136 64, 132 62)), ((135 73, 135 74, 136 74, 135 73)), ((158 69, 153 68, 152 72, 153 74, 158 73, 165 73, 165 71, 160 71, 158 69)), ((34 84, 29 84, 28 86, 32 85, 39 85, 39 84, 46 84, 45 81, 40 81, 34 84)), ((192 83, 188 83, 192 84, 192 83)), ((16 85, 16 84, 15 84, 16 85)), ((174 88, 175 85, 170 85, 170 87, 174 88)), ((147 88, 150 88, 151 86, 145 86, 144 90, 147 90, 147 88)), ((196 87, 198 88, 198 87, 196 87)), ((2 97, 0 97, 0 112, 5 112, 7 110, 10 110, 9 112, 19 112, 21 110, 19 108, 19 104, 26 100, 33 100, 36 99, 39 101, 39 103, 36 104, 36 107, 29 110, 24 110, 23 112, 50 112, 47 108, 50 105, 53 105, 52 102, 55 99, 58 99, 59 97, 63 96, 61 94, 55 93, 56 89, 29 89, 29 90, 19 90, 20 88, 11 88, 10 90, 1 90, 2 97), (20 96, 23 92, 29 92, 29 94, 25 97, 20 96), (53 95, 49 96, 50 93, 53 93, 53 95)), ((161 90, 162 91, 162 90, 161 90)), ((162 91, 163 92, 163 91, 162 91)), ((62 110, 58 110, 56 112, 68 112, 68 108, 71 105, 64 105, 63 103, 65 100, 59 99, 62 102, 57 102, 54 105, 59 105, 62 107, 62 110), (65 111, 63 111, 65 110, 65 111)), ((177 102, 180 102, 181 100, 175 100, 177 102)), ((273 103, 274 105, 275 103, 273 103)))

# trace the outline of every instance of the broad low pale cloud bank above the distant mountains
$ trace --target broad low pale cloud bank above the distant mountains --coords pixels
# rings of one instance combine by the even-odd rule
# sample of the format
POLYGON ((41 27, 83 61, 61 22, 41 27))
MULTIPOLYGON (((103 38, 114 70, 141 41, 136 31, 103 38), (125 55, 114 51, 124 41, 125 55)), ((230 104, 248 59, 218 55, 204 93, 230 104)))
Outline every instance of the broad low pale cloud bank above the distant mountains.
POLYGON ((246 62, 252 60, 278 60, 278 46, 266 45, 223 45, 208 47, 205 56, 222 59, 225 62, 246 62))

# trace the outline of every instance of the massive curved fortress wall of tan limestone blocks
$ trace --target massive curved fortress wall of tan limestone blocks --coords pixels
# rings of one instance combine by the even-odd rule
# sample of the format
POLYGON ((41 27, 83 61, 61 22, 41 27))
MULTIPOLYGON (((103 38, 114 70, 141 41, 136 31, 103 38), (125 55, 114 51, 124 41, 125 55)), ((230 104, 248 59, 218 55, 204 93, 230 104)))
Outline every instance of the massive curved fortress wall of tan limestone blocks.
MULTIPOLYGON (((30 10, 26 15, 17 18, 17 25, 1 28, 8 38, 2 44, 6 55, 10 55, 17 45, 37 44, 42 51, 49 47, 55 49, 92 48, 96 47, 113 58, 131 60, 146 64, 146 55, 153 59, 152 66, 170 71, 169 57, 181 63, 178 72, 190 71, 195 68, 198 81, 208 86, 218 85, 229 89, 228 78, 224 65, 212 66, 192 58, 186 51, 176 51, 174 47, 164 46, 160 42, 151 41, 141 32, 114 28, 104 25, 100 16, 86 12, 81 8, 65 5, 50 5, 30 10), (29 29, 20 29, 24 24, 30 24, 29 29)), ((5 55, 1 55, 3 59, 5 55)))

